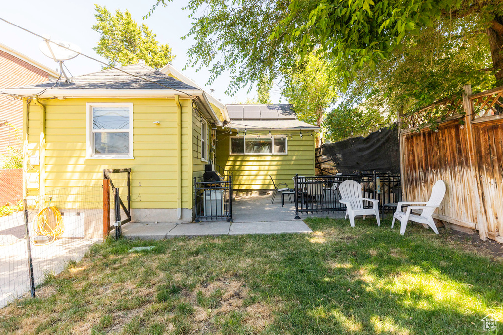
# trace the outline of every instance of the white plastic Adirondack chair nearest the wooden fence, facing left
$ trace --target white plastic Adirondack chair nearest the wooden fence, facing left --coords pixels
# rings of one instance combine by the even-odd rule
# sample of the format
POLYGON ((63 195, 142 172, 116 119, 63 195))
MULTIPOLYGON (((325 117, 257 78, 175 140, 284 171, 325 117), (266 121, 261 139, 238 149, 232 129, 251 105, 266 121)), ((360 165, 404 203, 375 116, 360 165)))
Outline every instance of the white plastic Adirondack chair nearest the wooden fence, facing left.
POLYGON ((445 195, 445 184, 442 180, 439 180, 433 185, 432 195, 430 195, 430 200, 428 202, 424 201, 400 201, 396 206, 396 212, 393 214, 393 223, 391 224, 391 228, 395 226, 395 220, 398 219, 400 221, 400 235, 405 234, 405 228, 407 227, 407 221, 411 220, 414 222, 418 222, 420 224, 427 224, 430 226, 435 234, 438 234, 437 226, 435 226, 435 222, 433 221, 432 214, 440 206, 442 199, 445 195), (401 208, 403 204, 426 204, 424 206, 410 206, 407 207, 405 212, 402 212, 401 208), (411 214, 410 211, 414 209, 423 209, 421 215, 411 214))

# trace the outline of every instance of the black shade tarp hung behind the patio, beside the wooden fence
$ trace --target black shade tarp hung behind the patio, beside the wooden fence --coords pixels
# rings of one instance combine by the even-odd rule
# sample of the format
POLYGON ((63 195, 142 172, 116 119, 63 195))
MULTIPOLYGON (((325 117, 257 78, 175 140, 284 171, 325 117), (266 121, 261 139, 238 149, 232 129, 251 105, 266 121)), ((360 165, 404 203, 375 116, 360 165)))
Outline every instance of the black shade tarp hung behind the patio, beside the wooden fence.
POLYGON ((315 163, 317 174, 400 173, 397 126, 381 128, 365 138, 325 143, 316 149, 315 163))

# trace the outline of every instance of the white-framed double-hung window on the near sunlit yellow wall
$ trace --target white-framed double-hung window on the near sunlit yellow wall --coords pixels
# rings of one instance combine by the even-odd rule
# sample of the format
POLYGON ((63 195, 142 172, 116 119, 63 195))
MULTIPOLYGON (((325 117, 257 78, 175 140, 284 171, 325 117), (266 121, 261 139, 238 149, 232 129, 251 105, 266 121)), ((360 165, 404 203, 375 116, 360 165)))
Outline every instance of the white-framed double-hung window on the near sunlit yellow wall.
POLYGON ((87 157, 93 159, 133 158, 133 104, 87 103, 87 157))

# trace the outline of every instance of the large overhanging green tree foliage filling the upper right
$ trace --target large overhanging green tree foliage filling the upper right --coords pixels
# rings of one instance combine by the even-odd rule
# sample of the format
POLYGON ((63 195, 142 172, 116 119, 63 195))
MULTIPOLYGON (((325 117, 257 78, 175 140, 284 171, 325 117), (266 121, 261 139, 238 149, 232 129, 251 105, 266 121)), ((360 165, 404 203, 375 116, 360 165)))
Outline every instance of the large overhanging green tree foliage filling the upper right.
POLYGON ((329 62, 343 106, 366 113, 503 84, 501 0, 189 0, 185 9, 188 65, 210 67, 210 81, 230 71, 230 94, 264 74, 302 72, 313 53, 329 62))

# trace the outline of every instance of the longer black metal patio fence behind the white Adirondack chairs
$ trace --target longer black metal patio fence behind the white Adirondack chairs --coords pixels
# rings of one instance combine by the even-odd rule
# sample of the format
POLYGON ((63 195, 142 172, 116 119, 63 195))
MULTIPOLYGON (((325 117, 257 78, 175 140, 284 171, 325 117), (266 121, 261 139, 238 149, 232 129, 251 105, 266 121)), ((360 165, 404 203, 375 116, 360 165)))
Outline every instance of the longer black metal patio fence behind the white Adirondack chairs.
MULTIPOLYGON (((367 173, 338 174, 325 176, 295 175, 295 218, 299 214, 329 213, 346 211, 346 205, 341 203, 339 185, 346 180, 354 180, 362 185, 362 196, 379 200, 380 212, 392 211, 383 204, 401 200, 401 181, 399 174, 367 173)), ((372 208, 372 202, 364 201, 364 206, 372 208)))

